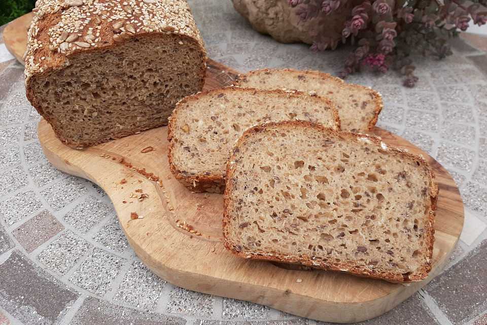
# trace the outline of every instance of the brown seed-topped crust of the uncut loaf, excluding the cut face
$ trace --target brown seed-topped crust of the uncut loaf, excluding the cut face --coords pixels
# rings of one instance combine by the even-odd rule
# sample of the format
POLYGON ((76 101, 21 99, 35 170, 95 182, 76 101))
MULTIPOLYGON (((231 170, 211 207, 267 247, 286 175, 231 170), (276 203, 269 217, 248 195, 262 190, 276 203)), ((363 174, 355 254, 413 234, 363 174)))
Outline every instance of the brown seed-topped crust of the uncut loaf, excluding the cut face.
MULTIPOLYGON (((198 81, 198 88, 202 89, 204 84, 205 72, 206 72, 206 50, 204 48, 204 42, 202 41, 199 31, 192 19, 191 14, 189 13, 189 7, 184 0, 176 0, 173 3, 175 8, 179 8, 181 12, 184 12, 181 17, 171 16, 171 13, 164 19, 159 20, 151 20, 147 21, 142 24, 141 26, 133 26, 133 32, 130 32, 127 28, 127 25, 132 20, 144 20, 144 15, 140 12, 141 10, 153 10, 157 11, 163 6, 164 4, 168 3, 165 0, 150 0, 146 2, 136 3, 134 6, 129 6, 130 9, 126 8, 127 6, 123 7, 123 1, 116 0, 113 2, 114 10, 120 9, 120 11, 113 11, 113 12, 106 12, 105 15, 111 16, 110 18, 100 18, 103 17, 101 13, 95 15, 94 12, 103 10, 101 7, 104 3, 93 3, 92 5, 85 5, 83 4, 82 0, 78 0, 82 5, 79 6, 72 6, 72 4, 76 3, 76 1, 69 2, 61 2, 59 0, 39 0, 39 5, 37 8, 34 8, 33 12, 36 12, 36 16, 34 16, 32 20, 32 24, 28 31, 28 44, 27 50, 24 54, 24 61, 25 61, 25 90, 26 96, 31 105, 38 111, 38 113, 51 124, 53 127, 54 133, 56 136, 61 140, 63 144, 74 146, 74 147, 87 147, 97 145, 103 142, 107 142, 109 139, 99 139, 94 140, 90 143, 76 143, 72 141, 72 139, 68 139, 64 137, 58 127, 53 123, 53 117, 46 114, 43 109, 43 103, 41 99, 36 98, 34 93, 34 85, 36 85, 40 80, 43 80, 47 75, 52 73, 55 70, 63 69, 64 67, 69 65, 70 60, 78 59, 81 55, 86 55, 87 53, 102 53, 109 51, 115 47, 123 46, 129 40, 133 39, 145 39, 145 38, 176 38, 177 41, 186 44, 191 43, 195 47, 199 49, 200 52, 200 60, 195 64, 199 65, 201 68, 201 76, 197 80, 198 81), (118 8, 118 7, 120 8, 118 8), (69 47, 68 50, 61 50, 60 41, 62 36, 59 36, 59 39, 53 37, 52 35, 48 34, 48 30, 56 29, 55 27, 59 22, 62 22, 63 15, 68 12, 69 10, 73 11, 73 8, 78 8, 79 11, 82 13, 91 13, 91 21, 85 26, 89 28, 95 28, 96 26, 102 26, 100 29, 99 37, 89 45, 88 48, 83 48, 80 46, 73 46, 69 47), (127 10, 130 10, 130 14, 127 15, 127 10), (186 13, 186 11, 188 13, 186 13), (124 16, 120 16, 116 19, 113 19, 114 16, 117 14, 123 14, 124 16), (95 18, 98 17, 99 23, 96 22, 93 24, 95 18), (173 27, 172 25, 177 26, 180 22, 186 21, 185 29, 178 29, 173 27), (115 25, 119 23, 121 27, 115 28, 115 25), (151 30, 152 29, 152 30, 151 30), (37 45, 36 45, 37 44, 37 45), (42 47, 39 46, 42 45, 42 47)), ((78 10, 77 9, 77 10, 78 10)), ((78 12, 79 12, 78 11, 78 12)), ((76 16, 75 12, 73 15, 76 16)), ((69 25, 66 25, 65 28, 69 28, 69 25)), ((76 41, 84 41, 84 37, 87 34, 87 30, 89 28, 84 28, 81 33, 83 34, 82 37, 78 37, 76 41)), ((76 34, 73 33, 73 34, 76 34)), ((64 43, 67 40, 64 41, 64 43)), ((86 42, 84 42, 86 43, 86 42)), ((181 44, 180 43, 180 44, 181 44)), ((75 41, 71 42, 70 45, 76 44, 75 41)), ((146 127, 136 127, 132 129, 125 129, 120 131, 119 133, 113 134, 112 138, 121 138, 124 136, 132 135, 138 131, 144 131, 145 129, 149 129, 152 127, 157 127, 164 125, 164 122, 153 123, 146 127)))

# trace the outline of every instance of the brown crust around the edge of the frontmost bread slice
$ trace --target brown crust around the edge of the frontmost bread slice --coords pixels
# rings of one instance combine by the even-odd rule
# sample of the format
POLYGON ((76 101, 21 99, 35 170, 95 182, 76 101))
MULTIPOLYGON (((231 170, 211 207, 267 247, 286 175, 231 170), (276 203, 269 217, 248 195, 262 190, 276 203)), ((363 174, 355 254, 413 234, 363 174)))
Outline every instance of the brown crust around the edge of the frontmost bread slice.
MULTIPOLYGON (((363 267, 352 267, 345 263, 330 263, 328 261, 323 261, 321 259, 309 258, 307 256, 304 257, 297 257, 297 256, 283 256, 283 255, 274 255, 268 253, 252 253, 252 252, 242 252, 241 248, 237 245, 233 244, 231 238, 229 238, 227 232, 227 226, 229 220, 232 216, 229 215, 228 206, 232 203, 230 197, 233 191, 233 178, 234 178, 234 164, 232 161, 235 160, 235 153, 232 153, 230 159, 228 160, 227 164, 227 178, 226 178, 226 188, 225 193, 223 195, 223 244, 224 246, 230 250, 234 255, 241 257, 241 258, 252 258, 252 259, 262 259, 265 261, 279 261, 279 262, 286 262, 286 263, 297 263, 297 264, 304 264, 309 265, 312 267, 316 267, 319 269, 324 270, 332 270, 332 271, 341 271, 341 272, 348 272, 353 275, 376 278, 376 279, 383 279, 390 282, 412 282, 412 281, 421 281, 428 276, 428 273, 431 271, 431 258, 433 255, 433 244, 434 244, 434 221, 435 221, 435 214, 436 214, 436 204, 438 199, 438 186, 436 185, 434 178, 435 175, 431 170, 430 165, 428 162, 419 155, 415 155, 405 151, 404 149, 385 146, 381 139, 378 137, 368 136, 364 134, 357 134, 352 132, 342 132, 342 131, 335 131, 331 128, 324 127, 323 125, 308 122, 308 121, 284 121, 284 122, 269 122, 262 125, 254 126, 248 129, 240 139, 235 144, 234 148, 238 148, 254 133, 259 133, 264 131, 267 128, 271 127, 286 127, 286 126, 304 126, 306 128, 315 128, 322 133, 328 134, 335 134, 339 135, 348 139, 359 139, 359 138, 366 138, 382 148, 386 148, 385 150, 390 150, 392 152, 401 153, 405 156, 411 157, 419 161, 420 164, 425 168, 429 175, 429 192, 430 192, 430 202, 431 207, 426 216, 428 219, 427 226, 425 228, 425 239, 427 241, 427 252, 426 252, 426 263, 424 264, 422 270, 416 272, 415 274, 411 275, 402 275, 402 274, 395 274, 390 272, 378 272, 376 270, 368 270, 363 267)), ((235 151, 235 150, 234 150, 235 151)))

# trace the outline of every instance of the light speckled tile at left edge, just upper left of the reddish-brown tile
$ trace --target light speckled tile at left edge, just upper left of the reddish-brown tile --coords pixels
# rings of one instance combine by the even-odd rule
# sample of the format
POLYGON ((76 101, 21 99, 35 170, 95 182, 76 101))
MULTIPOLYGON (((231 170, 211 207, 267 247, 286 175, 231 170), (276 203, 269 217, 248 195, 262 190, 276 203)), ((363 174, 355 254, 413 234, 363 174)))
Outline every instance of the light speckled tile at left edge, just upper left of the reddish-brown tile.
POLYGON ((0 217, 7 225, 12 225, 41 208, 42 203, 36 193, 21 192, 0 203, 0 217))

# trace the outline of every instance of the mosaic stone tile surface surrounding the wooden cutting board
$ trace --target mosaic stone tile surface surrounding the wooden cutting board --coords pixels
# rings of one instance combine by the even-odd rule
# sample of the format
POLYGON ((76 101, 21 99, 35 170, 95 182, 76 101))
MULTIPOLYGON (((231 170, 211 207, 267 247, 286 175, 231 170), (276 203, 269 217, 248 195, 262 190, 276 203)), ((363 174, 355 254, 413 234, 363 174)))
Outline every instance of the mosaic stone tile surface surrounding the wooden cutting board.
MULTIPOLYGON (((228 0, 189 3, 208 56, 231 68, 340 68, 344 50, 312 54, 305 45, 276 43, 228 0)), ((395 73, 347 80, 382 93, 378 125, 440 161, 466 212, 447 270, 365 324, 487 324, 487 41, 464 38, 473 46, 454 40, 445 60, 416 58, 414 88, 402 87, 395 73)), ((37 139, 40 116, 25 99, 23 67, 2 43, 0 34, 0 325, 317 323, 175 287, 150 272, 105 192, 49 165, 37 139)))

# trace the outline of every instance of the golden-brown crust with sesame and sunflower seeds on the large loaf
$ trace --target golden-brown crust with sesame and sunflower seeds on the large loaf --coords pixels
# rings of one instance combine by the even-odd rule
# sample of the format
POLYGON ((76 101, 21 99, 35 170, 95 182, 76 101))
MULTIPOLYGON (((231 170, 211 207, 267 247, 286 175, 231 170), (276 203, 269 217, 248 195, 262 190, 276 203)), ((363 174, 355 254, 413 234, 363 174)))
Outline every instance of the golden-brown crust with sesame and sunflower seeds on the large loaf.
MULTIPOLYGON (((53 126, 56 136, 66 145, 87 147, 107 142, 109 139, 80 144, 64 137, 54 125, 53 118, 44 112, 43 103, 34 95, 33 86, 52 71, 65 67, 69 60, 79 58, 85 53, 105 52, 123 46, 132 39, 173 37, 181 42, 180 44, 192 43, 199 48, 201 60, 195 64, 201 65, 202 74, 198 88, 203 87, 206 50, 190 8, 184 0, 116 0, 90 2, 90 5, 85 4, 84 0, 38 0, 38 6, 33 12, 36 16, 29 27, 28 44, 24 54, 26 96, 38 113, 53 126), (74 20, 70 17, 79 19, 74 20), (86 40, 89 35, 95 38, 91 41, 86 40), (71 36, 76 39, 68 42, 71 36), (62 46, 63 44, 67 44, 67 49, 62 46)), ((164 124, 157 122, 147 127, 124 130, 113 134, 112 138, 121 138, 164 124)))

